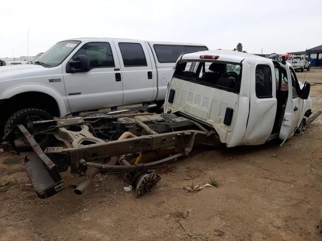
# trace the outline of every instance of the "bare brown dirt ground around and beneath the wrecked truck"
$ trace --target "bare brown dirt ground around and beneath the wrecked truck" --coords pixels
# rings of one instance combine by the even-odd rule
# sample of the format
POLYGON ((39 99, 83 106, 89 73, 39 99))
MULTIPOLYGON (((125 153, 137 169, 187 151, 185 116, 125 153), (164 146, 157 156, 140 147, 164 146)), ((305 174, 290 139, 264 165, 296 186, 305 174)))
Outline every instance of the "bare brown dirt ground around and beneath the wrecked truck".
MULTIPOLYGON (((297 73, 302 79, 304 73, 297 73)), ((322 83, 322 69, 305 80, 322 83)), ((311 86, 313 112, 322 84, 311 86)), ((84 195, 72 188, 39 199, 18 154, 0 153, 0 240, 321 240, 322 116, 281 148, 267 144, 196 150, 156 170, 150 195, 135 198, 121 176, 98 176, 84 195), (187 194, 186 185, 218 187, 187 194)), ((2 147, 0 147, 2 148, 2 147)), ((63 174, 66 186, 81 179, 63 174)))

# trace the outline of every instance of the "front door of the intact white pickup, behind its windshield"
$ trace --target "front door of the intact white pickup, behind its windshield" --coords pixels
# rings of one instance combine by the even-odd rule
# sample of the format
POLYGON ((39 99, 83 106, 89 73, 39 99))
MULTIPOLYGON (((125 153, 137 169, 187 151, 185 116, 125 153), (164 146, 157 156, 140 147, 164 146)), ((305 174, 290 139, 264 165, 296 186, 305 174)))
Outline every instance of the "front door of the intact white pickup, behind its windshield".
POLYGON ((122 76, 113 41, 85 43, 72 58, 75 59, 78 55, 86 55, 89 58, 91 69, 88 72, 66 73, 63 67, 66 95, 71 111, 121 105, 122 76))

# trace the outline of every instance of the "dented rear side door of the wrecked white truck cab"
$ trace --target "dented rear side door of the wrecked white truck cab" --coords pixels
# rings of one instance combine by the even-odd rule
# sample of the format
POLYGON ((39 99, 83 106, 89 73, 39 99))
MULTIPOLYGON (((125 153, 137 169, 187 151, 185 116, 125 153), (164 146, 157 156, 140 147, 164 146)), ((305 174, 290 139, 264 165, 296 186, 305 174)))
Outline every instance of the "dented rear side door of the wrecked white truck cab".
POLYGON ((277 108, 273 63, 251 63, 250 113, 242 144, 264 144, 274 126, 277 108))

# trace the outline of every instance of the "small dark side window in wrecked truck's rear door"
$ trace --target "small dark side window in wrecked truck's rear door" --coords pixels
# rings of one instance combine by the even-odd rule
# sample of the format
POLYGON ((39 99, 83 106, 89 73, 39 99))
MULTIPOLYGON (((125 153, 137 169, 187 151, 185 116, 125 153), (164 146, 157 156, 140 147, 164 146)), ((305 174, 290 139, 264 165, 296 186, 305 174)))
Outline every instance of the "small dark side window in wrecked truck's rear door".
POLYGON ((268 65, 256 66, 256 96, 258 98, 272 97, 272 71, 268 65))

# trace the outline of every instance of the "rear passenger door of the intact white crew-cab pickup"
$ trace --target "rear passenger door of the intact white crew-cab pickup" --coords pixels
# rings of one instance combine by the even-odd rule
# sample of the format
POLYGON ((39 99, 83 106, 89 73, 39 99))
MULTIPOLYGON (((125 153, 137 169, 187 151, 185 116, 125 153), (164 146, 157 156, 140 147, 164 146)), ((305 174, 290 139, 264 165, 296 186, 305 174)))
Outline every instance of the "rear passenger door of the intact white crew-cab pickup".
POLYGON ((154 100, 156 75, 153 74, 152 63, 145 42, 138 40, 113 41, 122 70, 123 105, 154 100))

